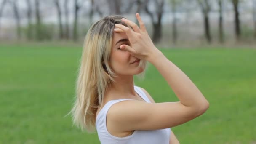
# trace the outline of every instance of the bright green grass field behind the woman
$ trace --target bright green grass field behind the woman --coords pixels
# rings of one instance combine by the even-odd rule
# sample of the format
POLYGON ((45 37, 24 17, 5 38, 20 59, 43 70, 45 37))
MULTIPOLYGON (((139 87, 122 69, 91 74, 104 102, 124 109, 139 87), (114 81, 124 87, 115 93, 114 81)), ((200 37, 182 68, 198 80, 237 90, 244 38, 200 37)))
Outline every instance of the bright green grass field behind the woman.
MULTIPOLYGON (((181 144, 256 143, 256 50, 161 50, 210 103, 205 114, 172 128, 181 144)), ((0 144, 99 144, 64 117, 72 107, 81 48, 0 46, 0 144)), ((135 80, 156 102, 177 101, 149 65, 135 80)), ((175 117, 173 117, 174 119, 175 117)))

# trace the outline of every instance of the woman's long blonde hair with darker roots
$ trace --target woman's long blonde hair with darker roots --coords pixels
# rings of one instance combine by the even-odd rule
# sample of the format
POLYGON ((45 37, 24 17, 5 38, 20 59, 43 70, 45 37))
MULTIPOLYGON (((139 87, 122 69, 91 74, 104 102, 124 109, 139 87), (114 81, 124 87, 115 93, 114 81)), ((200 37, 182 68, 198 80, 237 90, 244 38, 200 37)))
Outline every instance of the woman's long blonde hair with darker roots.
MULTIPOLYGON (((123 24, 123 16, 106 16, 94 23, 85 36, 80 68, 76 81, 76 98, 72 113, 73 124, 88 132, 95 131, 96 112, 101 106, 104 93, 117 75, 109 66, 112 36, 115 24, 123 24)), ((131 27, 130 27, 131 28, 131 27)), ((147 61, 141 59, 139 67, 144 72, 138 75, 144 79, 147 61)))

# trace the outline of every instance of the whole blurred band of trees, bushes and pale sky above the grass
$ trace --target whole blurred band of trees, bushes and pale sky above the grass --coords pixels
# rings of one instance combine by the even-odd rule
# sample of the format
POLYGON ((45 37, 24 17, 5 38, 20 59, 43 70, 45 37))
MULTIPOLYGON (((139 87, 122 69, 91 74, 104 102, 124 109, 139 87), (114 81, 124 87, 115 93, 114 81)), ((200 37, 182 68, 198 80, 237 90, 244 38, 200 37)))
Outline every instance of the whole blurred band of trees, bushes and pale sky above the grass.
POLYGON ((135 13, 163 47, 256 39, 255 0, 0 0, 0 40, 80 41, 101 17, 135 13))

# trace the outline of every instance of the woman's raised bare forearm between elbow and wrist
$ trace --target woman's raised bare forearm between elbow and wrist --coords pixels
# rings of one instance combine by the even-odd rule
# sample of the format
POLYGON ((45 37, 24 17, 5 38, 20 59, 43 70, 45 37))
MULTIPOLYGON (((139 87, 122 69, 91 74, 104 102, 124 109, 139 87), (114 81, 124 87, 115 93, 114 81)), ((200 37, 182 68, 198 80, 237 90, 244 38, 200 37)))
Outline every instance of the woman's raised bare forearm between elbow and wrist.
POLYGON ((195 111, 205 111, 209 103, 195 84, 175 64, 169 61, 157 48, 149 56, 152 63, 168 82, 180 103, 195 111))

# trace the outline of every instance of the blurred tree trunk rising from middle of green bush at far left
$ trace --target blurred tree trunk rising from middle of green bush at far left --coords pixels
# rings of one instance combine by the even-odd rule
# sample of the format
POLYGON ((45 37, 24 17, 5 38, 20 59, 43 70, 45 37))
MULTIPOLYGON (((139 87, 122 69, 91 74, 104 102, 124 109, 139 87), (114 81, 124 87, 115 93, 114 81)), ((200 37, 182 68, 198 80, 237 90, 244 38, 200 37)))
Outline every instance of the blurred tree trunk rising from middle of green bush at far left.
POLYGON ((37 40, 43 40, 42 37, 42 24, 41 24, 41 16, 40 16, 40 3, 39 0, 35 0, 35 16, 36 16, 36 37, 37 40))

